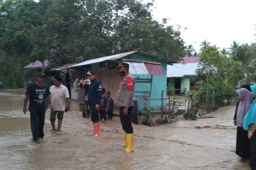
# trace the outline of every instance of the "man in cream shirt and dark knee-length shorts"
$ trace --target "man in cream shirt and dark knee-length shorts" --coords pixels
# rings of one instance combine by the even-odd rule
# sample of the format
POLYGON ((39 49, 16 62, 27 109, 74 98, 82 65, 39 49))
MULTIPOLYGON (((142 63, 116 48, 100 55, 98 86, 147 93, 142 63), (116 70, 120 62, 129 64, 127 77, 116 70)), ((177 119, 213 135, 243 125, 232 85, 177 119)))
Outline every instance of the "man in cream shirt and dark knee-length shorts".
POLYGON ((50 87, 51 102, 53 104, 53 111, 50 114, 50 121, 53 130, 55 129, 56 114, 58 119, 58 129, 60 131, 64 111, 69 110, 69 91, 68 88, 61 83, 62 79, 59 76, 55 76, 53 79, 53 86, 50 87), (66 107, 65 107, 66 102, 66 107))

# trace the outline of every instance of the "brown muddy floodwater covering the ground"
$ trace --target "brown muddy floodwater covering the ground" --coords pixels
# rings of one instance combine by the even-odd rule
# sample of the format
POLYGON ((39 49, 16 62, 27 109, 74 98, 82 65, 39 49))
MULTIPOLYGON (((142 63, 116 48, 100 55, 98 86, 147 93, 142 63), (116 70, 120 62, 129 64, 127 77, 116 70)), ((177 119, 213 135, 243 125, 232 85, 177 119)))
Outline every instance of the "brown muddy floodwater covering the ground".
POLYGON ((181 120, 147 127, 134 125, 134 152, 126 153, 119 117, 93 124, 82 113, 64 114, 61 132, 51 131, 46 112, 41 144, 32 142, 29 113, 23 114, 24 90, 0 90, 0 169, 237 169, 249 170, 236 155, 235 106, 208 114, 214 118, 181 120))

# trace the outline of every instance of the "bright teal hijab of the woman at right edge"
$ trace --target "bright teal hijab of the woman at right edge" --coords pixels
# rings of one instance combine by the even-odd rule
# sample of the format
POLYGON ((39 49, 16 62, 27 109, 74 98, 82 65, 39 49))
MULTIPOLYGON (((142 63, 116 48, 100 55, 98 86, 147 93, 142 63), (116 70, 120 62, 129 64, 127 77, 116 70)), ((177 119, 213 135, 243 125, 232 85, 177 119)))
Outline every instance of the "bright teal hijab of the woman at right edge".
MULTIPOLYGON (((256 96, 256 85, 252 85, 250 87, 251 87, 252 92, 256 96)), ((244 116, 244 120, 243 120, 244 130, 248 130, 249 125, 252 124, 252 123, 256 125, 256 99, 254 100, 254 102, 253 102, 251 108, 249 109, 249 111, 244 116)))

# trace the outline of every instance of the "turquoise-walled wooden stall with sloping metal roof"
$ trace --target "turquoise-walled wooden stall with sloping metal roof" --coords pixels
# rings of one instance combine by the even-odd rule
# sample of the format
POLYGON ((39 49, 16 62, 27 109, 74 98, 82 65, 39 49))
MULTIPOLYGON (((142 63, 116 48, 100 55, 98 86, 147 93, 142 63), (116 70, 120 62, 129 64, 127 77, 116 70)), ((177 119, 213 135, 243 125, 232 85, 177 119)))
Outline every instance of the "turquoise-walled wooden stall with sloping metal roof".
MULTIPOLYGON (((142 111, 145 107, 144 99, 138 98, 143 97, 144 94, 147 98, 161 98, 161 91, 163 90, 163 98, 166 98, 167 64, 174 63, 174 61, 161 56, 131 51, 87 60, 69 68, 96 71, 96 78, 102 82, 106 91, 111 92, 111 97, 115 103, 122 80, 118 70, 116 70, 116 66, 120 62, 129 64, 129 72, 135 79, 133 100, 138 101, 138 111, 142 111)), ((166 106, 165 100, 163 104, 166 106)), ((147 100, 147 108, 159 110, 161 100, 147 100)))

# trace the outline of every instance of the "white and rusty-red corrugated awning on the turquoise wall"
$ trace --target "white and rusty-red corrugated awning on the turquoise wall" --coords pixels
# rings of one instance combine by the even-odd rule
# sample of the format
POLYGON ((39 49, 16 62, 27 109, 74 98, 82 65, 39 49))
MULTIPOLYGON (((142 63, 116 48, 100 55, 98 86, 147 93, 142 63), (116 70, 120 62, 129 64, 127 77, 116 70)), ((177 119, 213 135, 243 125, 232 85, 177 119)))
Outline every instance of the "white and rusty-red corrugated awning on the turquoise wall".
POLYGON ((160 63, 125 59, 124 62, 129 64, 131 74, 165 75, 160 63))

